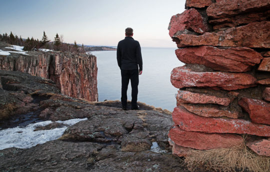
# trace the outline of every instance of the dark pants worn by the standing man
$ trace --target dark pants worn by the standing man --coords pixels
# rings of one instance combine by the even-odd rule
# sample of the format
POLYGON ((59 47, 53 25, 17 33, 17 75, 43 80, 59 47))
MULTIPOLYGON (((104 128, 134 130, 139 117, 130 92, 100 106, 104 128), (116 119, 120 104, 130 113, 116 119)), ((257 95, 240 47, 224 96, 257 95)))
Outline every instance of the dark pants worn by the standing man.
POLYGON ((126 91, 129 83, 129 79, 131 82, 131 107, 137 106, 137 95, 138 95, 138 69, 133 70, 122 70, 121 69, 121 77, 122 77, 122 95, 121 102, 122 106, 126 107, 126 91))

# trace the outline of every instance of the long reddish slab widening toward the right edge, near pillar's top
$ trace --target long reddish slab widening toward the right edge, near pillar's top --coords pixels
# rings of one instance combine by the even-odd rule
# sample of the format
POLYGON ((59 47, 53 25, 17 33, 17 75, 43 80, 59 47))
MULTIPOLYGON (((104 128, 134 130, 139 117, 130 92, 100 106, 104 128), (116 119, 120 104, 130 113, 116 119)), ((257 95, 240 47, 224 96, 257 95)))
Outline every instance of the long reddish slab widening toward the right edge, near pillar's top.
POLYGON ((270 21, 252 22, 218 32, 202 35, 180 34, 173 41, 178 48, 186 46, 211 45, 228 47, 270 48, 270 21))

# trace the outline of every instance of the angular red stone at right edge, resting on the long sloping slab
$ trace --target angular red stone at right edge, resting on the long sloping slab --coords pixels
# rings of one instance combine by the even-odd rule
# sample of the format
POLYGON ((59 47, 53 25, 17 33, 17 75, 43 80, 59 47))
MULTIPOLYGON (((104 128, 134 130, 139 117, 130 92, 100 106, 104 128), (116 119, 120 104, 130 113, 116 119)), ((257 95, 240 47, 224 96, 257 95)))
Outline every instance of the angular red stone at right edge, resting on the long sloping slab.
POLYGON ((249 99, 244 97, 241 98, 238 104, 249 114, 252 122, 270 125, 269 103, 260 99, 249 99))

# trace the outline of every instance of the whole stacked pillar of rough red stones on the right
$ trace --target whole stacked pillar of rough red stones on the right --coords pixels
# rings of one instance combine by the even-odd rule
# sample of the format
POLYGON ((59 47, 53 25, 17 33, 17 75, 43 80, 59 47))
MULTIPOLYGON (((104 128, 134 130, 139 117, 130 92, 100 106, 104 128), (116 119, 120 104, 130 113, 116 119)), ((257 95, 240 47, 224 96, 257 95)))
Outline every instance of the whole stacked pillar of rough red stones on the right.
POLYGON ((244 143, 270 156, 270 0, 186 0, 185 7, 168 27, 185 63, 170 77, 179 88, 173 154, 244 143))

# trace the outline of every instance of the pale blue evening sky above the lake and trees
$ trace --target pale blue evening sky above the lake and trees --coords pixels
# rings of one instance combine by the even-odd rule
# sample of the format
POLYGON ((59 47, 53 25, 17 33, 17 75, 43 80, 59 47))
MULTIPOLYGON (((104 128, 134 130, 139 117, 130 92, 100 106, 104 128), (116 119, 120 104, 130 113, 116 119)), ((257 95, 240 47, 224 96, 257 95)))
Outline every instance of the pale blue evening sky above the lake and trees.
POLYGON ((176 47, 168 35, 185 0, 0 0, 0 33, 66 43, 117 46, 126 27, 142 47, 176 47))

